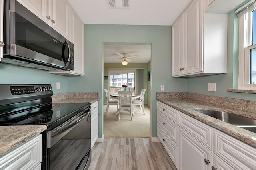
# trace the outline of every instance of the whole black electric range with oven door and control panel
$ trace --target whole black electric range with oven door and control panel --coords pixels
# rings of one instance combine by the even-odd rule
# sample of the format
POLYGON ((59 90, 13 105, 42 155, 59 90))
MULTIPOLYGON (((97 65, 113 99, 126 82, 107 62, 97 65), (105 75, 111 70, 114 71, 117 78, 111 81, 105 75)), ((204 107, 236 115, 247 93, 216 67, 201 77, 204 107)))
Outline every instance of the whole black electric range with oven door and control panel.
POLYGON ((52 95, 50 84, 0 84, 0 125, 46 125, 41 169, 87 170, 91 104, 52 103, 52 95))

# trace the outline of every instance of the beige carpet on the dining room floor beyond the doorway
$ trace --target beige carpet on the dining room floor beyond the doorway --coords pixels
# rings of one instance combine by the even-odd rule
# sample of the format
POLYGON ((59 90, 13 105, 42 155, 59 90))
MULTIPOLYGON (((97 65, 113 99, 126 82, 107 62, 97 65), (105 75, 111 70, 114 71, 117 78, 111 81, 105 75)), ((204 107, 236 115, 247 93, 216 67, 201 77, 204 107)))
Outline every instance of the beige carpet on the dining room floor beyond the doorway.
POLYGON ((116 116, 116 105, 109 105, 108 113, 104 105, 104 138, 149 138, 150 137, 150 107, 144 105, 145 115, 140 106, 134 106, 134 116, 127 109, 122 109, 120 121, 116 116))

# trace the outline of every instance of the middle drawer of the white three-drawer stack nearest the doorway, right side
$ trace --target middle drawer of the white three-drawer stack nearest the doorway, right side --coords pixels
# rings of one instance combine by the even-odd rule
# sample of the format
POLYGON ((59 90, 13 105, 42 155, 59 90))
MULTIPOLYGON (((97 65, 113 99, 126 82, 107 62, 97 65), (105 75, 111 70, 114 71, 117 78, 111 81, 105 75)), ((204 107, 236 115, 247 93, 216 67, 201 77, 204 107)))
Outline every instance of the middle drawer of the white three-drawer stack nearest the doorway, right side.
POLYGON ((166 117, 160 111, 157 112, 157 123, 163 130, 166 131, 166 134, 172 138, 175 144, 178 144, 178 125, 174 123, 171 119, 166 117))

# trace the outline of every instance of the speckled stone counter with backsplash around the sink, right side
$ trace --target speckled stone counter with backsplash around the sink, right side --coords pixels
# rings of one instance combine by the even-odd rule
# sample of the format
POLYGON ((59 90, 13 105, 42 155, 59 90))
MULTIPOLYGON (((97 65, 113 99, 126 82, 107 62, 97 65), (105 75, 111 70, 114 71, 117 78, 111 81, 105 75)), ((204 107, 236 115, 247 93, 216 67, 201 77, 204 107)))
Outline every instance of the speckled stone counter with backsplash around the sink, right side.
POLYGON ((256 148, 256 133, 198 112, 200 110, 226 111, 256 119, 256 101, 199 95, 194 93, 166 92, 157 93, 156 99, 256 148))

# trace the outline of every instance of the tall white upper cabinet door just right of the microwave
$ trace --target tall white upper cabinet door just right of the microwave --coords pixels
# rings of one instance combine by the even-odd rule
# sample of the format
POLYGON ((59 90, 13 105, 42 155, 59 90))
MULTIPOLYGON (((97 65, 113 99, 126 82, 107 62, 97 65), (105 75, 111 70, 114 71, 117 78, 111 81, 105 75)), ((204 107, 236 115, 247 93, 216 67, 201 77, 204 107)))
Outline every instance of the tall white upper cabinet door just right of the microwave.
POLYGON ((71 12, 71 41, 74 43, 74 72, 79 75, 84 75, 84 23, 72 10, 71 12))

